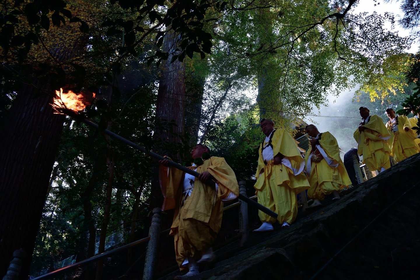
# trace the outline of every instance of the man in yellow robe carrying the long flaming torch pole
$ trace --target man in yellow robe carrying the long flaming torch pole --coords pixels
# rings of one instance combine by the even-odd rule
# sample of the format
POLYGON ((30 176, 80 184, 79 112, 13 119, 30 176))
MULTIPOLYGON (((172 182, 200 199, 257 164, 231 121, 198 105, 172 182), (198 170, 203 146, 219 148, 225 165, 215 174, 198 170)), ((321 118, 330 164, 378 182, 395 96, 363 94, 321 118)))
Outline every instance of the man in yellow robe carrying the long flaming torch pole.
POLYGON ((212 243, 220 230, 223 201, 235 199, 239 186, 232 168, 222 157, 210 157, 204 145, 191 152, 192 170, 198 178, 175 167, 168 160, 160 160, 159 180, 164 196, 163 210, 175 209, 170 235, 174 236, 176 262, 180 270, 189 271, 174 279, 197 275, 200 262, 214 259, 212 243), (212 180, 215 185, 209 184, 212 180))

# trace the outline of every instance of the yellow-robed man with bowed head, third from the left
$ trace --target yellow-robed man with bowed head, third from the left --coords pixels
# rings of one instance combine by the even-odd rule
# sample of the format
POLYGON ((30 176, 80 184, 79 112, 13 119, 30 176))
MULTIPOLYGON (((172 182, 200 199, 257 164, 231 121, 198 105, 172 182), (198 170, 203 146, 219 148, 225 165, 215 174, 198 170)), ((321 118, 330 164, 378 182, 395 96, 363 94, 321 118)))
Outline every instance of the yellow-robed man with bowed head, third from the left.
POLYGON ((333 194, 333 199, 339 199, 342 188, 349 186, 349 175, 340 158, 339 144, 336 138, 325 131, 320 133, 313 124, 305 127, 311 137, 311 149, 305 154, 306 175, 309 176, 310 188, 308 197, 313 203, 308 209, 322 206, 325 195, 333 194))

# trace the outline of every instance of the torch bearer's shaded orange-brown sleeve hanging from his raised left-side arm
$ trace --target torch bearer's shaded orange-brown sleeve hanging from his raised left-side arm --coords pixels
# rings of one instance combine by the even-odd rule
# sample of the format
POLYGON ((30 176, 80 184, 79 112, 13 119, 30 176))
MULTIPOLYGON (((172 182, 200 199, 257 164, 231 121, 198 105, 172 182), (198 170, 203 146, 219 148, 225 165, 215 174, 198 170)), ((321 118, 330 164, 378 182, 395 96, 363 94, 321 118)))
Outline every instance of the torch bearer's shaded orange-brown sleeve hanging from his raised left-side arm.
POLYGON ((175 167, 159 165, 159 184, 163 195, 162 210, 174 209, 184 172, 175 167))

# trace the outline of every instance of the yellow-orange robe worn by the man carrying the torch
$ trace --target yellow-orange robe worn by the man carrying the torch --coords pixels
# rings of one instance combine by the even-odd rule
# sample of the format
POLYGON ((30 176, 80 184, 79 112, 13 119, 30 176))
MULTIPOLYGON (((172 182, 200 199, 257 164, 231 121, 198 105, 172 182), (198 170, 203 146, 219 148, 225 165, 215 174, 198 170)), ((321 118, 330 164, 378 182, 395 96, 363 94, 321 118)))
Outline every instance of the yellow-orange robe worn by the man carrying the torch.
POLYGON ((196 171, 208 171, 213 175, 218 183, 218 193, 214 186, 195 178, 191 196, 185 195, 183 171, 163 165, 159 170, 164 197, 162 209, 175 209, 170 234, 174 235, 176 261, 181 270, 184 259, 190 256, 196 261, 199 260, 215 240, 222 222, 222 199, 231 192, 239 195, 235 173, 223 157, 204 160, 202 165, 197 166, 196 171))

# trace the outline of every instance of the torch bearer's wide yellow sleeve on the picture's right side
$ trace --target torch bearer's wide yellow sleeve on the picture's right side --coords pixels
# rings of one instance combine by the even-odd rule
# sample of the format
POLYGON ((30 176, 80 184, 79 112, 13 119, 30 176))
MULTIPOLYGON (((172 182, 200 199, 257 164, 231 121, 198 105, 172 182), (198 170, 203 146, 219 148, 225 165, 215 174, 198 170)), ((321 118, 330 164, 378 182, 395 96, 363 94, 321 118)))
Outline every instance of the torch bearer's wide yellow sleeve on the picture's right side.
POLYGON ((206 171, 215 178, 218 184, 217 195, 219 199, 225 199, 230 192, 239 196, 239 186, 234 170, 232 170, 223 157, 211 157, 210 166, 207 167, 206 171))

